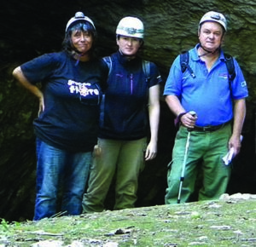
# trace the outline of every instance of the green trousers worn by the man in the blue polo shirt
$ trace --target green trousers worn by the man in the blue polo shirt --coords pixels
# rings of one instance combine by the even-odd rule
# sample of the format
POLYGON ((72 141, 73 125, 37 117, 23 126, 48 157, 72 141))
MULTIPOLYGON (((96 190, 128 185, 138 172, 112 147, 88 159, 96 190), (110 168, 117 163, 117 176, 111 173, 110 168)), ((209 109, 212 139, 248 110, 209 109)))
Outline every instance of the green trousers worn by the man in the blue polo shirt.
MULTIPOLYGON (((177 131, 167 174, 166 204, 177 203, 188 133, 183 126, 177 131)), ((226 166, 222 158, 228 152, 230 135, 231 124, 213 132, 190 132, 180 203, 191 201, 195 184, 200 185, 198 200, 215 200, 226 191, 230 165, 226 166), (197 183, 199 177, 201 182, 197 183)))

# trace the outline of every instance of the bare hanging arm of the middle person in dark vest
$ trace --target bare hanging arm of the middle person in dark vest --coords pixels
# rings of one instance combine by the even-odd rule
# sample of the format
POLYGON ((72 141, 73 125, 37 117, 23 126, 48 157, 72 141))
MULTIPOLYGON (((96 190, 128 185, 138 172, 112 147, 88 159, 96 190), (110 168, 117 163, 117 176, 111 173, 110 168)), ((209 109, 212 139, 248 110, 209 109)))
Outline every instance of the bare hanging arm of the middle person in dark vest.
POLYGON ((157 154, 158 128, 160 120, 160 86, 154 85, 149 88, 149 124, 151 138, 148 143, 145 160, 155 158, 157 154))

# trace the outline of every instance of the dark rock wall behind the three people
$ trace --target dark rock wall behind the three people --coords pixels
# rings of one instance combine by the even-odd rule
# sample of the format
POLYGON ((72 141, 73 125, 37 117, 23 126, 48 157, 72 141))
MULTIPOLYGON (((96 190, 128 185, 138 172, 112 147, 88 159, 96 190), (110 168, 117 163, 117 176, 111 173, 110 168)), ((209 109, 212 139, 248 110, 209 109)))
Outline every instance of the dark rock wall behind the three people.
MULTIPOLYGON (((68 2, 10 0, 0 4, 0 218, 32 219, 35 193, 32 119, 37 115, 38 101, 17 86, 11 72, 26 60, 61 49, 67 20, 79 10, 95 22, 99 55, 109 55, 117 49, 115 28, 122 17, 140 17, 146 30, 143 57, 160 67, 164 81, 177 54, 197 43, 202 14, 217 10, 227 16, 229 32, 224 50, 240 63, 250 91, 243 146, 236 158, 229 191, 255 192, 256 0, 68 2)), ((172 113, 162 101, 159 154, 140 177, 137 206, 164 203, 166 166, 172 158, 175 131, 172 113)), ((110 192, 108 206, 111 204, 110 192)))

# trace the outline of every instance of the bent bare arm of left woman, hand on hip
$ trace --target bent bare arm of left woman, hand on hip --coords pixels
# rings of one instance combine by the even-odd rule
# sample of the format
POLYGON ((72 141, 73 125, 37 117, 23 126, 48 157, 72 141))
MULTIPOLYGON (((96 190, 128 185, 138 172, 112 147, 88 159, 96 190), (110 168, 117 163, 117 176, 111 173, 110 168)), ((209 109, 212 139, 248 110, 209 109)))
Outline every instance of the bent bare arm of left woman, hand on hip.
POLYGON ((32 85, 32 83, 30 83, 26 77, 24 76, 23 72, 21 71, 20 66, 16 67, 14 72, 13 72, 13 76, 18 80, 18 82, 27 90, 29 90, 33 95, 38 97, 39 100, 39 111, 38 111, 38 115, 40 114, 40 112, 44 111, 44 95, 42 93, 42 91, 40 89, 38 89, 37 86, 32 85))

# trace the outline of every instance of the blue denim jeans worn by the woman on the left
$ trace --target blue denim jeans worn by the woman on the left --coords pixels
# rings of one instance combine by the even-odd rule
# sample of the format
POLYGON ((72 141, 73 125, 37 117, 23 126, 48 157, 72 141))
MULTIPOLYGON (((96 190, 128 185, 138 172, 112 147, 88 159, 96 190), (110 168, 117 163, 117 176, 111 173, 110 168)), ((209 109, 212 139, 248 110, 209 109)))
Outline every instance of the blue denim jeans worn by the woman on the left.
POLYGON ((37 158, 34 221, 58 213, 59 199, 63 215, 81 214, 91 152, 67 152, 37 140, 37 158))

